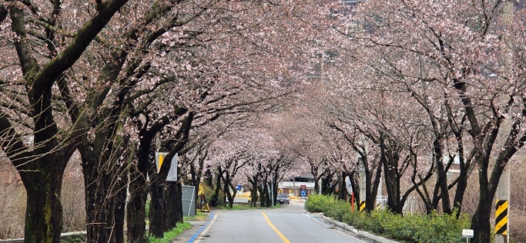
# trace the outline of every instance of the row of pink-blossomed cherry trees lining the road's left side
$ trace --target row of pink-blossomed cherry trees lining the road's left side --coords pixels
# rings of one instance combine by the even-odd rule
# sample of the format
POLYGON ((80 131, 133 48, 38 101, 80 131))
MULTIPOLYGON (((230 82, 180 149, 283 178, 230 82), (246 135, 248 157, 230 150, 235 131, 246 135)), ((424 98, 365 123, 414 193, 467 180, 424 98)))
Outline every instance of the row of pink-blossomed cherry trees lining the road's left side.
MULTIPOLYGON (((124 241, 128 186, 127 240, 147 241, 146 175, 162 212, 168 169, 151 173, 154 151, 171 159, 193 128, 295 89, 310 52, 299 44, 333 4, 313 2, 3 1, 1 149, 27 192, 25 242, 59 242, 75 151, 88 242, 124 241)), ((154 217, 149 229, 161 236, 166 224, 154 217)))

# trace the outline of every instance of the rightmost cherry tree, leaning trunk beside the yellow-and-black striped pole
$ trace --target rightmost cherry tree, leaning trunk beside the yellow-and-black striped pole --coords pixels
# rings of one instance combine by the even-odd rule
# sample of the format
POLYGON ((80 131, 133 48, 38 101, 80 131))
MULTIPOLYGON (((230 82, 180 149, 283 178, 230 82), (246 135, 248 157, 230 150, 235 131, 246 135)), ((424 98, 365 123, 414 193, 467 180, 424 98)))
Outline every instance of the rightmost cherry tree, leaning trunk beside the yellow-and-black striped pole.
MULTIPOLYGON (((506 11, 513 13, 513 4, 507 1, 367 1, 358 4, 355 15, 350 17, 353 23, 362 23, 361 31, 349 36, 363 47, 367 62, 376 63, 377 73, 384 79, 413 87, 409 90, 428 108, 430 121, 440 122, 431 124, 434 137, 442 136, 442 125, 451 126, 460 153, 466 145, 473 147, 471 153, 462 155, 472 158, 479 176, 479 207, 471 220, 476 232, 474 242, 488 242, 491 238, 490 213, 496 186, 525 139, 520 127, 525 107, 524 87, 520 84, 522 69, 507 61, 516 58, 513 53, 517 52, 508 50, 522 43, 522 34, 517 30, 524 25, 519 22, 522 16, 503 24, 506 11), (516 43, 501 41, 509 36, 516 43), (422 96, 414 89, 418 85, 419 89, 440 95, 422 96), (459 130, 461 126, 463 129, 459 130)), ((513 14, 506 18, 510 16, 513 14)), ((435 141, 433 150, 440 152, 445 143, 435 141)), ((435 157, 438 167, 439 160, 439 156, 435 157)), ((459 181, 464 183, 465 178, 459 181)), ((445 194, 448 187, 442 183, 441 193, 445 194)), ((461 198, 462 193, 457 191, 455 203, 462 203, 461 198)), ((442 195, 442 205, 447 204, 444 200, 442 195)))

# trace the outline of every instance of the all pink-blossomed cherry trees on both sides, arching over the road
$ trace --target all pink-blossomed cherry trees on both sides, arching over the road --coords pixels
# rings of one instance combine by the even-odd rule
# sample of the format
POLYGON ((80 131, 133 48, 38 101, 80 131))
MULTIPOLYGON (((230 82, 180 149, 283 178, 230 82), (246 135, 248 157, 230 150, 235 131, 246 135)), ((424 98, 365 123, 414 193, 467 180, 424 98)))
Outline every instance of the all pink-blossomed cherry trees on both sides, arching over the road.
POLYGON ((504 24, 506 4, 2 2, 0 142, 27 192, 25 242, 59 241, 76 151, 88 242, 124 242, 125 220, 127 241, 147 242, 148 193, 161 237, 182 220, 166 203, 181 181, 230 202, 250 183, 266 206, 308 171, 324 193, 349 175, 359 195, 356 154, 367 210, 383 178, 396 213, 411 193, 460 213, 478 175, 471 228, 489 242, 498 180, 526 140, 525 10, 504 24), (155 172, 161 150, 181 156, 178 183, 164 183, 169 163, 155 172))

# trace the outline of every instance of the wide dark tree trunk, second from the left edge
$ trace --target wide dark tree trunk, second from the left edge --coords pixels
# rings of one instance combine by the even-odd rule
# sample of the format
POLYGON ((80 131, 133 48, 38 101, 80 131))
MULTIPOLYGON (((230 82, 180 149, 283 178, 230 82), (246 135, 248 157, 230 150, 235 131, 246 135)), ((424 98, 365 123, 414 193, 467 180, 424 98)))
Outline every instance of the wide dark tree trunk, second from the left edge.
POLYGON ((118 123, 110 123, 80 147, 88 243, 122 242, 124 237, 128 141, 117 135, 117 128, 118 123))

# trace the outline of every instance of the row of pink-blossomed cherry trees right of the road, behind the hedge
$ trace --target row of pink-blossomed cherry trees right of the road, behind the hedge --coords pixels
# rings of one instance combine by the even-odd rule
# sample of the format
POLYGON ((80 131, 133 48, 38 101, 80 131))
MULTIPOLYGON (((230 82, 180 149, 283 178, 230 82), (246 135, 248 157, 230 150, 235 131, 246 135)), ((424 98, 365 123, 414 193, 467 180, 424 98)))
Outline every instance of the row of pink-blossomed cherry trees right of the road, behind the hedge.
POLYGON ((416 191, 428 212, 439 204, 460 212, 474 171, 474 242, 491 239, 498 181, 526 140, 525 9, 513 9, 508 1, 365 1, 342 16, 341 47, 323 58, 317 111, 383 166, 391 210, 416 191), (460 172, 448 181, 454 161, 460 172))

